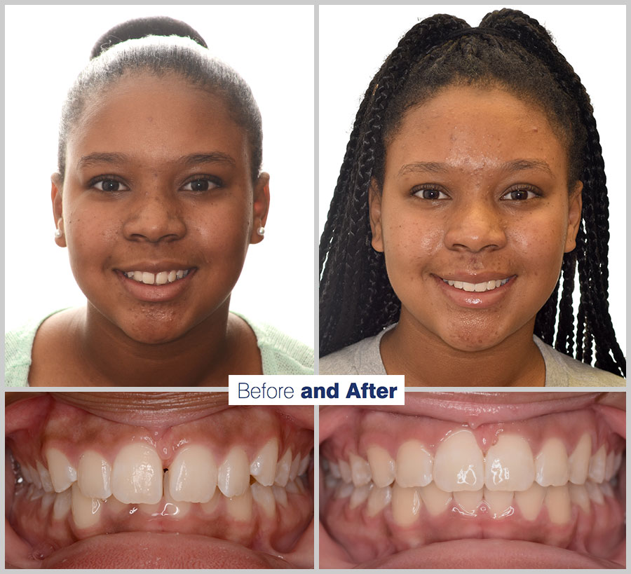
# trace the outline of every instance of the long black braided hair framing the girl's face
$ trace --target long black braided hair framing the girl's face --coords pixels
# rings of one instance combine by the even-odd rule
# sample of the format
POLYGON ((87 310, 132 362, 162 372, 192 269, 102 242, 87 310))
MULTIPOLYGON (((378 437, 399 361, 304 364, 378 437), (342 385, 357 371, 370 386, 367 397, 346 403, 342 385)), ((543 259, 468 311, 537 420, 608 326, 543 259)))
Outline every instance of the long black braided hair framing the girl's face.
MULTIPOLYGON (((541 109, 568 153, 568 182, 583 182, 576 249, 538 312, 534 332, 566 355, 625 374, 608 309, 609 210, 604 161, 590 97, 581 79, 534 18, 508 8, 479 28, 437 14, 403 36, 370 82, 355 118, 320 239, 320 355, 398 320, 401 303, 384 254, 371 247, 368 197, 381 190, 385 153, 405 111, 452 85, 496 86, 541 109), (578 265, 578 313, 572 304, 578 265), (559 298, 560 297, 560 298, 559 298)), ((572 189, 572 187, 570 187, 572 189)))

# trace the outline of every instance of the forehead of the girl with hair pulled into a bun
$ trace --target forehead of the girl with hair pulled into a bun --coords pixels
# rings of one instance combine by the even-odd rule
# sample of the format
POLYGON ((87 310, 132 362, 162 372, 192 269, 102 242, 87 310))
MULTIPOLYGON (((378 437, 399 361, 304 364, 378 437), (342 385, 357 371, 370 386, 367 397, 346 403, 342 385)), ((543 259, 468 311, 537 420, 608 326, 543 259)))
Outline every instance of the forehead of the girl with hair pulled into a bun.
POLYGON ((138 74, 90 97, 69 134, 67 156, 115 151, 167 160, 213 150, 247 164, 246 143, 245 131, 218 95, 172 74, 138 74))

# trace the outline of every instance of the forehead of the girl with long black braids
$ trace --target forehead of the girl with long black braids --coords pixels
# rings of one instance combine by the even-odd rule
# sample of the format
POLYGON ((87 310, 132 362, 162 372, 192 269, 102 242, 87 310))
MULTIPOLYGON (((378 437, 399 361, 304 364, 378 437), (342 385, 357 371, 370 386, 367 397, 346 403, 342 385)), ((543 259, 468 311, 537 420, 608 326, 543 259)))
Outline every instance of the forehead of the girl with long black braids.
POLYGON ((386 166, 422 160, 477 170, 535 158, 566 170, 564 144, 540 109, 498 88, 450 87, 405 113, 386 166))

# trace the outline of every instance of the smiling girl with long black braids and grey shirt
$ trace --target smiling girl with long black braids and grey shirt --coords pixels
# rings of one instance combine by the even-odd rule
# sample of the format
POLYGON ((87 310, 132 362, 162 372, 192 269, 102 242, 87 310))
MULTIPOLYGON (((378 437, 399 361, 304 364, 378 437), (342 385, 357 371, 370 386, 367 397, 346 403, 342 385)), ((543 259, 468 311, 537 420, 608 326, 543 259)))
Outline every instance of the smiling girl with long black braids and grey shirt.
POLYGON ((548 32, 509 9, 419 22, 346 148, 320 242, 320 373, 623 385, 608 215, 590 99, 548 32))

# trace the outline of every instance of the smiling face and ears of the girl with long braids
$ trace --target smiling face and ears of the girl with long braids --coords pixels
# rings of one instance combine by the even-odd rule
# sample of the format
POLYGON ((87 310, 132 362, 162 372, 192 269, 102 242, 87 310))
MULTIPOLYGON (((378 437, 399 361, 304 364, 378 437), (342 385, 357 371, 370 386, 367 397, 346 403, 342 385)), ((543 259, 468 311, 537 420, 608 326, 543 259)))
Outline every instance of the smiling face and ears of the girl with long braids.
POLYGON ((370 202, 401 320, 466 351, 531 332, 576 246, 568 185, 545 115, 503 90, 450 87, 408 111, 370 202))

